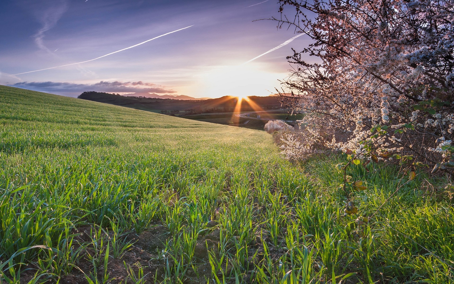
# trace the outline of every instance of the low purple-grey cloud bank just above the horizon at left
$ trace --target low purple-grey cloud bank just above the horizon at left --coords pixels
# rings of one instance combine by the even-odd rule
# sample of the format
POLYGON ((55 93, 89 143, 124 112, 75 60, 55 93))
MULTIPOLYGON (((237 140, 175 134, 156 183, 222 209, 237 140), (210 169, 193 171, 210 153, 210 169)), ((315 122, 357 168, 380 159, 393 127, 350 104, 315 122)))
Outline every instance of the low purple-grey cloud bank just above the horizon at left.
POLYGON ((76 84, 68 82, 19 82, 12 87, 52 93, 57 95, 76 96, 84 91, 98 91, 106 93, 158 93, 173 94, 174 90, 166 90, 160 85, 138 82, 108 82, 100 81, 94 84, 76 84))

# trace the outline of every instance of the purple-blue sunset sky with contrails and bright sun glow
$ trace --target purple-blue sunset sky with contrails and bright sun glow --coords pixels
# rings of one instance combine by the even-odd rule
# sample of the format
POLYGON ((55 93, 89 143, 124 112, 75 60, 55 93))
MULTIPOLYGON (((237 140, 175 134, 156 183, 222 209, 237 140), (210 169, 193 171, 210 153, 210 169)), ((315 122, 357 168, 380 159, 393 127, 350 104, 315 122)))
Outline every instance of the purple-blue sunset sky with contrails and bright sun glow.
POLYGON ((278 9, 276 0, 1 0, 0 84, 73 97, 270 95, 289 74, 291 47, 309 44, 259 20, 278 9))

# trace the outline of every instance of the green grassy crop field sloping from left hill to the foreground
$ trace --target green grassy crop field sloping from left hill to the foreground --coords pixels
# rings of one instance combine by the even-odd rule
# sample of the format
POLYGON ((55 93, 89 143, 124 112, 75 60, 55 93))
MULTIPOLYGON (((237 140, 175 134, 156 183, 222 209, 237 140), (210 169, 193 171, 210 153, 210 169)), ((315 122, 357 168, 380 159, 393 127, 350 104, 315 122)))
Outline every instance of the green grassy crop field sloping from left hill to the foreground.
POLYGON ((423 174, 349 168, 343 217, 343 158, 291 164, 264 131, 6 86, 0 123, 2 284, 454 283, 423 174))

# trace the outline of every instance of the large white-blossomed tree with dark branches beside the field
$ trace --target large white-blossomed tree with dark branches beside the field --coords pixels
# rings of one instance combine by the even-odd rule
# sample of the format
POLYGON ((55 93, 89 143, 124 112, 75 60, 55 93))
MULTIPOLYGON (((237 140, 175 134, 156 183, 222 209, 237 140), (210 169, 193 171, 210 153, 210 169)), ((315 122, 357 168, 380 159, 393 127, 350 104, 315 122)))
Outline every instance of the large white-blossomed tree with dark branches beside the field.
POLYGON ((454 170, 454 0, 281 0, 280 12, 279 27, 313 39, 287 57, 283 84, 307 114, 287 156, 336 149, 454 170))

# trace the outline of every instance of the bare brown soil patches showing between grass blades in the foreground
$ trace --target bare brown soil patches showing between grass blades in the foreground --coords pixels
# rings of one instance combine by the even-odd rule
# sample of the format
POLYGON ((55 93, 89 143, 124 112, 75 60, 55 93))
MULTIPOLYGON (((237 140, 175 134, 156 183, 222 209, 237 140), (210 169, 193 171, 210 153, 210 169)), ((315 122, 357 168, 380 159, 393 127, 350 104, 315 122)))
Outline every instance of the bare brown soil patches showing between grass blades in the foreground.
MULTIPOLYGON (((211 221, 208 224, 210 230, 204 236, 199 235, 197 238, 197 244, 194 251, 194 257, 197 260, 197 269, 194 271, 191 267, 188 268, 186 277, 183 280, 184 284, 206 284, 207 279, 211 279, 211 265, 208 259, 208 250, 212 250, 217 253, 217 247, 220 239, 219 229, 217 229, 217 223, 211 221)), ((90 226, 79 227, 76 233, 79 235, 76 237, 79 243, 90 241, 90 226)), ((163 249, 165 248, 166 241, 170 238, 170 234, 165 226, 162 224, 153 225, 152 229, 144 231, 141 234, 131 233, 127 236, 127 241, 131 241, 133 246, 129 251, 123 254, 118 259, 111 258, 109 254, 109 262, 107 264, 108 282, 111 284, 125 283, 127 279, 128 283, 135 283, 131 277, 131 269, 133 274, 138 275, 139 268, 143 269, 143 275, 145 283, 161 282, 164 279, 164 268, 166 267, 166 259, 163 259, 163 249), (128 271, 129 270, 129 271, 128 271)), ((75 241, 74 241, 75 242, 75 241)), ((258 251, 263 253, 263 247, 259 240, 257 244, 251 247, 248 252, 249 259, 247 261, 252 264, 252 256, 258 251)), ((279 255, 278 252, 271 249, 271 254, 279 255)), ((62 284, 88 284, 85 274, 90 276, 93 273, 93 264, 88 259, 88 254, 94 254, 94 249, 87 248, 81 253, 78 268, 72 269, 72 271, 63 276, 59 283, 62 284)), ((101 255, 104 259, 104 254, 101 255)), ((257 259, 256 259, 257 261, 257 259)), ((169 266, 172 267, 173 262, 169 261, 169 266)), ((32 266, 32 265, 30 265, 32 266)), ((224 266, 225 267, 225 264, 224 266)), ((27 267, 28 268, 28 267, 27 267)), ((227 266, 227 270, 230 270, 231 266, 227 266)), ((35 275, 36 269, 33 267, 23 273, 21 273, 21 283, 27 283, 35 275)), ((229 273, 229 272, 227 272, 229 273)), ((104 263, 99 267, 98 279, 102 282, 104 278, 104 263)), ((249 277, 247 277, 249 278, 249 277)), ((46 283, 56 283, 55 280, 49 279, 46 283)), ((229 282, 227 282, 229 283, 229 282)), ((235 283, 232 279, 232 283, 235 283)))

